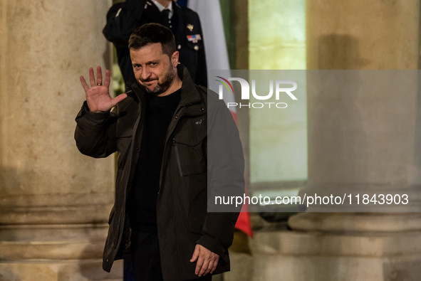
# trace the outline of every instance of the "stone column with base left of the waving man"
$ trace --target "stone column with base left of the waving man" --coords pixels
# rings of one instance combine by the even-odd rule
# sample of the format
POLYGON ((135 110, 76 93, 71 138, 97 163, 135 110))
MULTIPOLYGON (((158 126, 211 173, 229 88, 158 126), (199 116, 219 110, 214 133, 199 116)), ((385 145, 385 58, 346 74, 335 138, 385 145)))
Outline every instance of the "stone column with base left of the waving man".
POLYGON ((79 76, 111 68, 111 1, 0 4, 0 280, 121 279, 102 251, 113 157, 78 152, 79 76))

